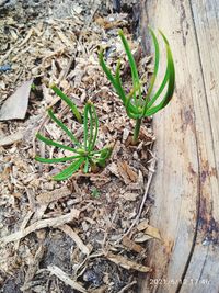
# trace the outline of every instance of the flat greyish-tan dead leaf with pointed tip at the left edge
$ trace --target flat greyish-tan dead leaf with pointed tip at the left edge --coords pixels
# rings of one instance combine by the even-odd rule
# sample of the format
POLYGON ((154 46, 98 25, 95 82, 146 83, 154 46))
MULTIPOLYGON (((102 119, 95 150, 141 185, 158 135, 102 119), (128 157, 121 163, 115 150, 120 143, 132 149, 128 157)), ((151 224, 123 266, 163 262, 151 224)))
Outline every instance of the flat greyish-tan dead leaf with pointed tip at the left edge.
POLYGON ((24 81, 16 91, 9 97, 0 109, 0 120, 24 119, 28 105, 28 97, 33 79, 24 81))

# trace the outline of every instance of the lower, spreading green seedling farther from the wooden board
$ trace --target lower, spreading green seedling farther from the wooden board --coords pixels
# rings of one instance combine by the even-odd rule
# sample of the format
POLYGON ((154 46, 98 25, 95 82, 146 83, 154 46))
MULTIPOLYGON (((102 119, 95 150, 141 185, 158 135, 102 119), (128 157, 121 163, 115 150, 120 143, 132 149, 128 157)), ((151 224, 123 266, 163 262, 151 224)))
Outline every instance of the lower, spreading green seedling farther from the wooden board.
MULTIPOLYGON (((73 102, 62 93, 55 86, 51 87, 54 91, 70 106, 79 122, 82 121, 81 114, 73 104, 73 102)), ((54 114, 53 110, 48 110, 49 117, 59 126, 61 129, 70 137, 73 147, 62 145, 60 143, 48 139, 47 137, 36 134, 36 137, 44 142, 48 146, 55 146, 61 149, 72 151, 70 157, 61 158, 42 158, 35 157, 37 161, 45 164, 55 164, 55 162, 65 162, 71 161, 70 166, 65 168, 60 173, 54 176, 55 180, 65 180, 71 177, 80 168, 83 168, 84 173, 88 173, 89 170, 95 170, 97 166, 104 167, 106 159, 110 158, 112 154, 112 147, 105 147, 100 150, 95 149, 97 131, 99 131, 99 120, 94 105, 91 102, 88 102, 83 111, 83 142, 80 143, 77 137, 71 133, 71 131, 54 114)))

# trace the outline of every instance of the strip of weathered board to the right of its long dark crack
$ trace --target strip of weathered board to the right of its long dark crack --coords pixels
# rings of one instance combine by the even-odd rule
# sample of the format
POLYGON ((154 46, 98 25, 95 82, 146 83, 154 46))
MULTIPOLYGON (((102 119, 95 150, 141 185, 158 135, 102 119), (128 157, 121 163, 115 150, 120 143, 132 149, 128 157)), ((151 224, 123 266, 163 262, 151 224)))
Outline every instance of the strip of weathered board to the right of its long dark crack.
MULTIPOLYGON (((210 124, 208 136, 212 139, 209 156, 214 158, 212 165, 210 160, 201 165, 198 234, 185 279, 196 275, 198 282, 194 292, 204 293, 219 290, 219 2, 191 1, 191 9, 210 124)), ((187 292, 186 286, 182 292, 187 292)))

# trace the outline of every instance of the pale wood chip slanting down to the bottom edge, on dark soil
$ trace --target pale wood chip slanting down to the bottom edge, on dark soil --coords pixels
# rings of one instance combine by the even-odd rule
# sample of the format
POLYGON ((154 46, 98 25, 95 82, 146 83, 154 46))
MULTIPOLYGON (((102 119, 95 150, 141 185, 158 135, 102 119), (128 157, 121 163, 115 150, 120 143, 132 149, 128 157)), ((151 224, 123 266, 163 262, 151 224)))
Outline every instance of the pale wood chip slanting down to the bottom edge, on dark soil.
POLYGON ((48 266, 47 270, 55 274, 58 279, 60 279, 65 284, 71 286, 74 290, 78 290, 79 292, 87 293, 88 291, 78 282, 71 280, 66 272, 64 272, 61 269, 59 269, 56 266, 48 266))

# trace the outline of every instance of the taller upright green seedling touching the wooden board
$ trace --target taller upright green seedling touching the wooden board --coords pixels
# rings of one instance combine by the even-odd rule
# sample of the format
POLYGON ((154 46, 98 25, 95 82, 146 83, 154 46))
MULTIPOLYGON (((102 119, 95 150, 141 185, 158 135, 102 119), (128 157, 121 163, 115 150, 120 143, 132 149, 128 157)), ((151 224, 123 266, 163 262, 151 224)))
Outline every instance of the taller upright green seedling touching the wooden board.
POLYGON ((175 86, 175 69, 174 69, 174 63, 173 63, 171 48, 164 34, 161 31, 159 31, 165 44, 168 61, 166 61, 165 75, 161 82, 161 86, 159 87, 158 91, 152 94, 154 82, 155 82, 157 75, 158 75, 158 69, 159 69, 160 48, 159 48, 158 38, 154 32, 151 29, 149 29, 149 31, 152 35, 152 40, 153 40, 153 44, 155 48, 155 60, 154 60, 153 75, 152 75, 146 97, 142 97, 142 84, 141 84, 142 82, 139 79, 135 58, 131 54, 128 42, 126 37, 124 36, 124 33, 122 30, 119 30, 118 34, 120 36, 126 55, 128 57, 128 61, 129 61, 130 69, 131 69, 131 78, 132 78, 132 90, 130 90, 129 93, 125 92, 123 84, 122 84, 119 60, 116 66, 115 75, 113 75, 110 68, 107 67, 106 63, 104 61, 103 49, 100 52, 100 55, 99 55, 100 65, 103 68, 104 72, 106 74, 108 80, 112 82, 113 87, 115 88, 118 97, 123 101, 123 104, 126 108, 127 115, 136 120, 136 126, 134 131, 134 144, 136 144, 138 140, 142 119, 146 116, 151 116, 158 111, 160 111, 161 109, 163 109, 172 99, 173 92, 174 92, 174 86, 175 86), (158 98, 161 95, 161 93, 165 90, 165 88, 166 88, 166 91, 164 93, 164 97, 161 99, 161 101, 158 104, 154 104, 158 98))

